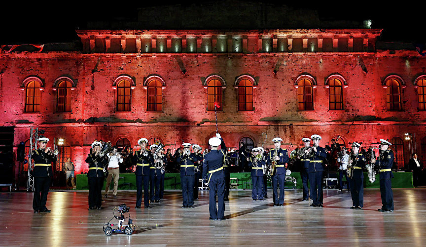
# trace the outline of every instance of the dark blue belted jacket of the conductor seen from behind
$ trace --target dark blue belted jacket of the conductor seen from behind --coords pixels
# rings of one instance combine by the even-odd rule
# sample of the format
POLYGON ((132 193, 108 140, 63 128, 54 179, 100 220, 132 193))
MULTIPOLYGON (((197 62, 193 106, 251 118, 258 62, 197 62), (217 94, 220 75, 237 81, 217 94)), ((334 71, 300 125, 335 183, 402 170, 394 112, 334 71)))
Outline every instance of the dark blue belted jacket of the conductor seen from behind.
POLYGON ((203 183, 208 183, 225 177, 223 165, 225 163, 225 150, 226 146, 223 142, 220 144, 221 149, 212 150, 204 156, 203 162, 203 183), (214 172, 212 172, 214 171, 214 172), (212 172, 212 173, 209 173, 212 172))

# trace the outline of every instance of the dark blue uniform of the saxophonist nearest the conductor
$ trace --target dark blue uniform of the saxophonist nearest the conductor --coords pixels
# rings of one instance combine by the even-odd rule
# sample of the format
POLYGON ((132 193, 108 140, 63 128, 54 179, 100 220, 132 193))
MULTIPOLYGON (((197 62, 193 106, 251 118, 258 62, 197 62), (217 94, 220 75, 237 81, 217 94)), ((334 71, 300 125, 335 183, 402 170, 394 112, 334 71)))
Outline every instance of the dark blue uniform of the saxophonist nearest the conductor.
MULTIPOLYGON (((274 160, 275 149, 269 151, 267 164, 272 164, 274 160)), ((284 182, 285 182, 285 163, 288 162, 287 150, 280 148, 277 152, 277 156, 280 158, 275 165, 274 174, 272 174, 272 195, 274 197, 274 205, 284 205, 284 182), (278 188, 280 188, 280 196, 278 196, 278 188)))

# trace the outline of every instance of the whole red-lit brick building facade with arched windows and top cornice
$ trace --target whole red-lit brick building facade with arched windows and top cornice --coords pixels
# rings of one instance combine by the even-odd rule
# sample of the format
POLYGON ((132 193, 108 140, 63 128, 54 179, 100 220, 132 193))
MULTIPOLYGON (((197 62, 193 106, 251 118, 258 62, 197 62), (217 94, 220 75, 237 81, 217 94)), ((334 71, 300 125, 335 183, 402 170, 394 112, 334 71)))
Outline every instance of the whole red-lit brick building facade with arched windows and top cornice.
MULTIPOLYGON (((204 148, 216 131, 292 150, 320 134, 376 146, 389 139, 399 168, 414 148, 426 157, 426 58, 377 47, 376 29, 86 30, 81 49, 0 55, 2 126, 15 146, 30 128, 65 139, 77 172, 95 139, 139 138, 204 148), (263 137, 262 137, 262 133, 263 137), (405 140, 409 133, 411 140, 405 140), (292 144, 292 147, 290 147, 292 144)), ((16 149, 15 149, 16 151, 16 149)))

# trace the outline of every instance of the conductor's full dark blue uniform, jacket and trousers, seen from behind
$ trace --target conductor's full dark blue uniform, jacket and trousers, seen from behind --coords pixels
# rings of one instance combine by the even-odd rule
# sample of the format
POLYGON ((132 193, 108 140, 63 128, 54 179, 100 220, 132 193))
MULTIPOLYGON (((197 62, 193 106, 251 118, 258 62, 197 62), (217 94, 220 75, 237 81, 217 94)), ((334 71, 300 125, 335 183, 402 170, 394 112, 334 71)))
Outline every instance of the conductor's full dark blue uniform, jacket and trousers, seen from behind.
MULTIPOLYGON (((222 138, 220 138, 222 140, 222 138)), ((203 183, 209 183, 209 211, 210 219, 223 219, 225 217, 225 144, 221 149, 212 150, 204 156, 203 183), (217 208, 216 208, 217 195, 217 208)))

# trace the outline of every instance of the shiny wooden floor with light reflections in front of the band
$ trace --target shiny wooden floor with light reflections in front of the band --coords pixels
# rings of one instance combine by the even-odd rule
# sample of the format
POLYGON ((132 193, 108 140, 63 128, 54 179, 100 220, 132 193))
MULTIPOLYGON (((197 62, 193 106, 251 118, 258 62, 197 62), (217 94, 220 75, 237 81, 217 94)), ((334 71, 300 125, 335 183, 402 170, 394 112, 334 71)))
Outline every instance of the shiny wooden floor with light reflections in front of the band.
POLYGON ((32 193, 5 192, 0 193, 1 246, 424 246, 426 190, 394 189, 393 195, 395 211, 382 213, 379 189, 364 191, 362 210, 350 209, 350 193, 335 189, 324 190, 323 208, 302 202, 301 190, 286 190, 284 207, 234 190, 226 220, 210 221, 208 191, 200 191, 192 209, 180 208, 179 191, 166 191, 151 209, 135 209, 136 192, 119 191, 117 199, 105 199, 104 209, 90 211, 87 191, 51 191, 52 212, 39 214, 33 213, 32 193), (102 227, 122 203, 131 207, 136 231, 108 237, 102 227))

